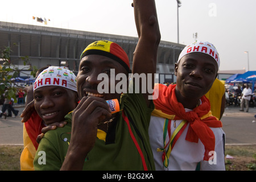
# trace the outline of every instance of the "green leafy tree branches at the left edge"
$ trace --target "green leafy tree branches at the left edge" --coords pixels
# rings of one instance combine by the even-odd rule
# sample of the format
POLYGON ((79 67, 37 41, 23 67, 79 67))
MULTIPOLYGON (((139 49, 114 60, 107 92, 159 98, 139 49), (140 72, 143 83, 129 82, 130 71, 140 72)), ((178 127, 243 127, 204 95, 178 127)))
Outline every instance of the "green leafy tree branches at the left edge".
MULTIPOLYGON (((16 46, 16 44, 14 44, 14 46, 16 46)), ((23 71, 31 71, 30 75, 35 77, 37 68, 31 66, 28 56, 24 56, 20 57, 20 59, 23 60, 24 68, 18 69, 18 67, 12 63, 13 61, 10 60, 11 52, 13 52, 11 51, 11 47, 0 49, 0 96, 6 92, 7 98, 14 98, 14 102, 17 102, 15 93, 18 85, 12 82, 11 78, 18 77, 19 73, 23 71)))

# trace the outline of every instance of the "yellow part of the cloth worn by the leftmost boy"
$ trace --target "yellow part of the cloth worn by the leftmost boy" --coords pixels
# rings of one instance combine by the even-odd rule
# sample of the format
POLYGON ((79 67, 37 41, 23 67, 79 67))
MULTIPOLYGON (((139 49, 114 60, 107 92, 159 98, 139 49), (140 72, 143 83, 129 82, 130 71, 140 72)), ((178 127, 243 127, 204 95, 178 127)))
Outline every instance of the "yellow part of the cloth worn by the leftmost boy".
POLYGON ((24 149, 20 155, 20 170, 21 171, 34 171, 33 161, 35 158, 35 147, 27 134, 25 125, 23 125, 23 143, 24 149))

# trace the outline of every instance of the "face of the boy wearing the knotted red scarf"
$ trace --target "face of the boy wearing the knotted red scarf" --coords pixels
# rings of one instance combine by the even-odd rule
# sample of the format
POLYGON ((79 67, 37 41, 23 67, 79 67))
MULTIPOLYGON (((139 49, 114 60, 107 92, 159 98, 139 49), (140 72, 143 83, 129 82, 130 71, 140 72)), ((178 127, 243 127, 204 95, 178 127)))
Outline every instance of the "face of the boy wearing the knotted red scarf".
POLYGON ((216 61, 205 53, 194 52, 183 56, 175 65, 178 101, 199 100, 212 87, 217 72, 216 61))

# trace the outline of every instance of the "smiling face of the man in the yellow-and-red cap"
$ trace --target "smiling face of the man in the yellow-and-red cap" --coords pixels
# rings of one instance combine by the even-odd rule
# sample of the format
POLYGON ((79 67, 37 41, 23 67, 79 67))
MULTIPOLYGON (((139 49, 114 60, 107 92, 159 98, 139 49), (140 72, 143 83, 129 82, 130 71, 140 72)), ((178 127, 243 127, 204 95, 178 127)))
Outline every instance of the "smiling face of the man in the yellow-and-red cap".
MULTIPOLYGON (((115 75, 118 73, 125 73, 128 75, 125 68, 119 64, 117 61, 110 59, 106 56, 101 55, 87 55, 83 57, 80 61, 79 73, 77 74, 77 92, 79 97, 94 96, 102 97, 104 100, 112 100, 117 98, 118 101, 121 94, 110 93, 110 87, 115 86, 119 80, 115 80, 114 83, 110 81, 110 69, 115 69, 115 75), (102 80, 97 80, 100 73, 105 73, 109 78, 109 93, 100 94, 97 90, 98 84, 102 80), (111 85, 112 84, 112 85, 111 85)), ((128 77, 127 77, 128 78, 128 77)), ((112 79, 113 80, 113 79, 112 79)))

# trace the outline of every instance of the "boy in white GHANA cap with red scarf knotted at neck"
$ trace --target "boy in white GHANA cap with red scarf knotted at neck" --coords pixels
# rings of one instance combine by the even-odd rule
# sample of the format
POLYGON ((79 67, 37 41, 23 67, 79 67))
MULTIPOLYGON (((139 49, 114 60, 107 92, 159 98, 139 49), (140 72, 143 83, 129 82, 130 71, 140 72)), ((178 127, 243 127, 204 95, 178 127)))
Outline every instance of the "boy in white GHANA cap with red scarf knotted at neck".
POLYGON ((213 44, 195 42, 175 64, 177 84, 155 87, 149 133, 156 170, 225 170, 222 123, 205 97, 219 66, 213 44))

